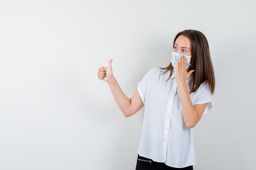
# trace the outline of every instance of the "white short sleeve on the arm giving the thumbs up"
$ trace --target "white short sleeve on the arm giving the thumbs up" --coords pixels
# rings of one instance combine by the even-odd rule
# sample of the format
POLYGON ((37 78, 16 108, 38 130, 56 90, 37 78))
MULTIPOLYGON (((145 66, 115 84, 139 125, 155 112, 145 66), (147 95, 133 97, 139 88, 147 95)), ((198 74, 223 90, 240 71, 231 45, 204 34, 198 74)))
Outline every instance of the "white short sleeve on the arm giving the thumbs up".
POLYGON ((140 82, 138 82, 139 96, 144 105, 145 105, 145 101, 146 101, 146 92, 147 92, 148 80, 149 80, 151 71, 152 71, 152 69, 150 71, 148 71, 148 73, 146 73, 146 75, 144 75, 144 77, 141 79, 140 82))

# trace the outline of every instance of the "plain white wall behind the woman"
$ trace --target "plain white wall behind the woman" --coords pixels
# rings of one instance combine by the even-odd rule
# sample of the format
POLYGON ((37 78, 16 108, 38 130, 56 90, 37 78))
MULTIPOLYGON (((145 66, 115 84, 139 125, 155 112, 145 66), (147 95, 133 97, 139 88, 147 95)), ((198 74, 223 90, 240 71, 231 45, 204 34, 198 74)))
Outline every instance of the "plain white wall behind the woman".
POLYGON ((195 126, 195 170, 256 166, 254 0, 0 0, 0 170, 135 170, 144 108, 125 118, 97 78, 130 98, 170 63, 175 34, 206 35, 212 110, 195 126))

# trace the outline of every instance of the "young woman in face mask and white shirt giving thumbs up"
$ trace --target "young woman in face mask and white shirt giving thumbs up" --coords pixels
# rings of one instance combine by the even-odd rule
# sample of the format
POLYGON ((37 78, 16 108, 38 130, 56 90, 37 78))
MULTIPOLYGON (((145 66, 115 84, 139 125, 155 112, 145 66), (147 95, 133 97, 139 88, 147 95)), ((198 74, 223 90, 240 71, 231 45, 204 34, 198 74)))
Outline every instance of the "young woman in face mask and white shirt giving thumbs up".
POLYGON ((212 108, 215 88, 204 34, 196 30, 177 33, 171 63, 151 68, 130 99, 113 76, 111 62, 99 68, 98 78, 108 82, 124 116, 134 115, 145 105, 136 170, 193 170, 193 127, 212 108))

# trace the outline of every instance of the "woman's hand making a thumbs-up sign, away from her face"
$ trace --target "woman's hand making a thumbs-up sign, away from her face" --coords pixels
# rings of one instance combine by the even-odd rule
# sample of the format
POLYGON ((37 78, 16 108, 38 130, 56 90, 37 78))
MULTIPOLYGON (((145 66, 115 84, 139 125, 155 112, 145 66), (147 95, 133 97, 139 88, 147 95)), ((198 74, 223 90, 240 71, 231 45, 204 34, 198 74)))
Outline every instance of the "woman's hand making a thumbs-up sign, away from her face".
POLYGON ((113 76, 111 62, 113 59, 108 60, 108 67, 101 66, 98 70, 98 78, 108 82, 113 76), (106 71, 106 73, 105 73, 106 71))

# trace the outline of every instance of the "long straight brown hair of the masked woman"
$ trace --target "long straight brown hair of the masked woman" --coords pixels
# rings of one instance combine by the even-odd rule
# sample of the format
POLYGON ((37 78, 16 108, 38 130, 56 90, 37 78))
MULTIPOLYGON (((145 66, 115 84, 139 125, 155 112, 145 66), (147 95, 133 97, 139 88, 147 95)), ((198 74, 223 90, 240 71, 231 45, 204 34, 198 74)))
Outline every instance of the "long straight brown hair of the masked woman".
MULTIPOLYGON (((213 71, 213 64, 211 62, 211 56, 209 51, 209 44, 203 33, 197 30, 184 30, 179 33, 174 38, 173 48, 176 39, 180 36, 184 35, 184 37, 189 38, 191 44, 191 65, 188 70, 195 70, 191 74, 191 80, 189 85, 191 87, 190 94, 197 91, 199 86, 207 81, 211 94, 214 93, 215 88, 215 76, 213 71)), ((159 67, 161 68, 161 67, 159 67)), ((166 69, 164 73, 170 70, 170 77, 173 74, 173 66, 170 63, 169 66, 161 69, 166 69)), ((162 73, 162 74, 164 74, 162 73)), ((170 77, 168 79, 170 79, 170 77)), ((168 81, 168 79, 166 81, 168 81)))

